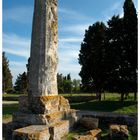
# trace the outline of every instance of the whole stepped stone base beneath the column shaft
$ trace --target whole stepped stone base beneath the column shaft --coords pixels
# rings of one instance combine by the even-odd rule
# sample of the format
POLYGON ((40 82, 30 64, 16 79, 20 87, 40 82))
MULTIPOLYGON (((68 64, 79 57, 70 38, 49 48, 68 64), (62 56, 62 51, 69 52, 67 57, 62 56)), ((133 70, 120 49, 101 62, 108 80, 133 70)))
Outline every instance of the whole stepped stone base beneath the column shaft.
POLYGON ((32 97, 30 101, 32 105, 27 96, 19 98, 19 111, 13 114, 13 140, 61 140, 77 121, 76 110, 62 96, 32 97))

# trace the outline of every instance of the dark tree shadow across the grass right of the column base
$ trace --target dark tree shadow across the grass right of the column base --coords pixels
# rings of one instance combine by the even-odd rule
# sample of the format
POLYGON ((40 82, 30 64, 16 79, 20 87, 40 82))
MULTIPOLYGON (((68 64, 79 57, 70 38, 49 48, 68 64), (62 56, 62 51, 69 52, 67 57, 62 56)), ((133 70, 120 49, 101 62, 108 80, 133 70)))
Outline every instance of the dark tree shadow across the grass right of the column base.
POLYGON ((124 107, 136 106, 135 101, 90 101, 82 103, 71 103, 71 108, 79 110, 89 110, 89 111, 103 111, 103 112, 114 112, 120 110, 124 107))

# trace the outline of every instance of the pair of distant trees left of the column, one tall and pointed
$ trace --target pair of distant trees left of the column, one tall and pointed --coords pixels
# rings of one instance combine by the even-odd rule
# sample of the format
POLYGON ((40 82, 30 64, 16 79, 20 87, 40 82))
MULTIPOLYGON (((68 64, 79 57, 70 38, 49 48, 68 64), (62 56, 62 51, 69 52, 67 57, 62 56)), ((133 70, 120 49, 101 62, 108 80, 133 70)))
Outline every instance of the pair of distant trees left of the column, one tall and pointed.
POLYGON ((5 52, 2 53, 2 91, 3 93, 19 93, 26 94, 28 89, 27 73, 23 72, 17 76, 15 85, 13 86, 12 74, 9 68, 9 60, 5 52))

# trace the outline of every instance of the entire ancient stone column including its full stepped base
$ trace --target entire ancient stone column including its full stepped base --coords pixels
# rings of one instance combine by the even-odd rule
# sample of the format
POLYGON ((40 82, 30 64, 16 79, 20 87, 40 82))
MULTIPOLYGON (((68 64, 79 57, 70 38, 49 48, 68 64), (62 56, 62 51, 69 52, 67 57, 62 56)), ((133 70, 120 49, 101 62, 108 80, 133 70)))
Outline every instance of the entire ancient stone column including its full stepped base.
POLYGON ((77 116, 58 96, 57 0, 35 0, 28 76, 28 96, 19 97, 13 113, 12 139, 61 140, 77 116))

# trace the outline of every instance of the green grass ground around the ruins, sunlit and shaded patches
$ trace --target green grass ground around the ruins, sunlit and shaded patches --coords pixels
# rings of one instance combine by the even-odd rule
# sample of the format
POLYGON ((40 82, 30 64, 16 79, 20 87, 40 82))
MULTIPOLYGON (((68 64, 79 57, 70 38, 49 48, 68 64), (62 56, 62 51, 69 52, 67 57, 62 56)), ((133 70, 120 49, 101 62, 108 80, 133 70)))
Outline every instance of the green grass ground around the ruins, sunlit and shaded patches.
MULTIPOLYGON (((64 96, 70 96, 69 94, 61 94, 64 96)), ((92 95, 92 94, 72 94, 72 96, 80 95, 92 95)), ((5 97, 18 97, 18 94, 13 95, 4 95, 5 97)), ((70 103, 71 108, 79 110, 89 110, 89 111, 102 111, 102 112, 117 112, 117 113, 137 113, 137 101, 133 101, 133 94, 129 94, 128 99, 124 102, 119 101, 120 95, 117 93, 106 93, 105 100, 97 101, 92 100, 89 102, 79 102, 79 103, 70 103)), ((12 119, 12 113, 16 112, 18 109, 18 101, 3 101, 3 123, 10 122, 12 119)), ((108 128, 104 126, 99 126, 103 132, 102 137, 104 140, 108 138, 108 128)), ((82 133, 82 129, 74 131, 68 134, 67 140, 71 140, 71 136, 74 134, 82 133)), ((135 136, 130 135, 130 140, 136 140, 135 136)))

